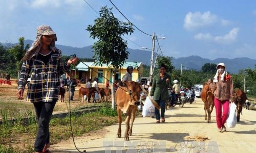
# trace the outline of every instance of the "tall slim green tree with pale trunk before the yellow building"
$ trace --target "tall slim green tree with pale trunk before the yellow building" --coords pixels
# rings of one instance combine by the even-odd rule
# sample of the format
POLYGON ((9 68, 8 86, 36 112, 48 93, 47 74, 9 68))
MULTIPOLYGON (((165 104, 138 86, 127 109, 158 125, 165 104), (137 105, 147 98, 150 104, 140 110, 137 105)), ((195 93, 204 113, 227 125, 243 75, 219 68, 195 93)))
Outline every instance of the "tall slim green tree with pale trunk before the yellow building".
MULTIPOLYGON (((122 36, 132 34, 134 29, 130 22, 119 21, 111 12, 112 8, 103 7, 100 10, 100 17, 94 20, 94 25, 88 25, 87 30, 90 37, 97 39, 92 46, 94 49, 93 59, 95 64, 112 65, 114 69, 112 82, 114 83, 115 72, 128 59, 127 41, 122 36)), ((112 88, 112 108, 115 107, 114 87, 112 88)))

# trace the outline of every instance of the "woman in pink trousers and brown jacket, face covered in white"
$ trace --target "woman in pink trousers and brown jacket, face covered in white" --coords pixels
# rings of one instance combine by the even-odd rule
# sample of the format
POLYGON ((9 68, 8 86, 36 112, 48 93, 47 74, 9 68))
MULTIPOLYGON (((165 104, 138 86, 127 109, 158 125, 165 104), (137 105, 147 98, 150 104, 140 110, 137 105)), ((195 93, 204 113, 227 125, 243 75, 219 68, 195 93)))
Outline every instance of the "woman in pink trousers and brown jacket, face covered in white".
POLYGON ((224 63, 219 63, 216 68, 213 84, 216 121, 219 132, 225 132, 227 129, 224 124, 228 117, 229 99, 232 102, 234 99, 233 81, 231 75, 227 74, 224 63))

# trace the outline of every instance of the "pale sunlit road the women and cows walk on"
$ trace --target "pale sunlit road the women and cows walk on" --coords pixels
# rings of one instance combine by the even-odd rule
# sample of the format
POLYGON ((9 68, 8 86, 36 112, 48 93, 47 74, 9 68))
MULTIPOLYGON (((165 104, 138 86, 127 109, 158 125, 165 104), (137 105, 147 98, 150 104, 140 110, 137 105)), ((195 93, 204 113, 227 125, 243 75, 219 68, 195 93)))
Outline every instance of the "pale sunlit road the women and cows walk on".
MULTIPOLYGON (((204 120, 203 103, 185 104, 166 111, 166 122, 156 124, 151 117, 136 117, 130 141, 117 138, 118 125, 74 138, 79 151, 87 152, 255 152, 256 111, 243 110, 241 121, 227 132, 218 132, 215 110, 212 123, 204 120)), ((52 145, 50 152, 79 152, 73 139, 52 145)))

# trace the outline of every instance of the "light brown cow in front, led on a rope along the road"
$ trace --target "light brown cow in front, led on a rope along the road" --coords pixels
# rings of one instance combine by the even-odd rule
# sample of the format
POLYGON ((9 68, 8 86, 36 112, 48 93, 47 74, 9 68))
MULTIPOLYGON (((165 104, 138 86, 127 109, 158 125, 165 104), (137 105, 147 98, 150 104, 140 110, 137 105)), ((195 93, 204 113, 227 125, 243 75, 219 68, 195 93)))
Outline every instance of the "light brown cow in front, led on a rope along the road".
POLYGON ((126 115, 125 119, 125 133, 124 140, 129 140, 129 136, 132 135, 133 132, 133 122, 135 119, 135 113, 137 111, 137 106, 140 105, 140 84, 134 81, 128 82, 120 82, 119 87, 115 93, 115 102, 118 114, 118 131, 117 137, 121 137, 121 123, 122 123, 122 115, 121 111, 124 115, 126 115), (130 126, 131 120, 131 126, 130 126))

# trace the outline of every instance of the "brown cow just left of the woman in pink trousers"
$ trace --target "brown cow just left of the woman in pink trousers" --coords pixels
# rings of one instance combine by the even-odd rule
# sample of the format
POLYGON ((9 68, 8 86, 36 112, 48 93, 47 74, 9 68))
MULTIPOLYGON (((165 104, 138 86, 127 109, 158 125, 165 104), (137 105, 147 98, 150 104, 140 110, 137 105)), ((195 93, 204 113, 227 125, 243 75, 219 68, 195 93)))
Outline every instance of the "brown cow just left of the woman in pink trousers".
POLYGON ((214 93, 212 93, 212 79, 209 79, 204 85, 201 93, 201 99, 204 102, 205 120, 210 123, 210 114, 214 109, 214 93), (208 113, 208 117, 207 117, 208 113))

